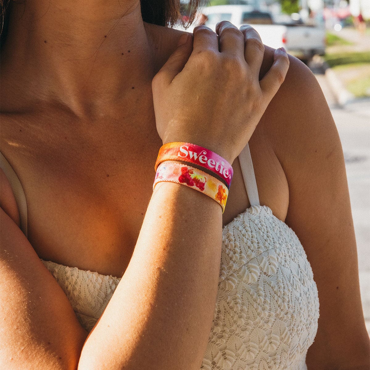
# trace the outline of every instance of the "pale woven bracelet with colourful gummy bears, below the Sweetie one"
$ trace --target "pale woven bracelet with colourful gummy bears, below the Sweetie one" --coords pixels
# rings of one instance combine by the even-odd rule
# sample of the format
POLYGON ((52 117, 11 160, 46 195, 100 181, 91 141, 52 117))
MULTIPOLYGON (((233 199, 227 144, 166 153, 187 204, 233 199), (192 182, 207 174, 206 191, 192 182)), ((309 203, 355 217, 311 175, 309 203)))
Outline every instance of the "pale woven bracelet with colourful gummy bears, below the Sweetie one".
POLYGON ((161 181, 176 182, 198 190, 218 202, 222 207, 222 213, 225 211, 226 200, 229 195, 228 188, 221 180, 198 168, 175 161, 162 162, 155 174, 153 190, 155 185, 161 181))

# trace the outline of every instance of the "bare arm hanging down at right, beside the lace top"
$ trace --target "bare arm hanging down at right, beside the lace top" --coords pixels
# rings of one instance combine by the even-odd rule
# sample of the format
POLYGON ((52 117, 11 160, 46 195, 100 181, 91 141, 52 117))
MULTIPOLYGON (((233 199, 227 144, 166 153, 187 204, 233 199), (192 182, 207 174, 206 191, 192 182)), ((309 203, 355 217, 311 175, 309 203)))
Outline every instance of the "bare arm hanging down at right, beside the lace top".
POLYGON ((307 366, 369 369, 342 145, 316 78, 295 58, 268 110, 281 120, 272 135, 279 138, 277 155, 289 184, 286 223, 305 248, 319 292, 319 325, 307 366))

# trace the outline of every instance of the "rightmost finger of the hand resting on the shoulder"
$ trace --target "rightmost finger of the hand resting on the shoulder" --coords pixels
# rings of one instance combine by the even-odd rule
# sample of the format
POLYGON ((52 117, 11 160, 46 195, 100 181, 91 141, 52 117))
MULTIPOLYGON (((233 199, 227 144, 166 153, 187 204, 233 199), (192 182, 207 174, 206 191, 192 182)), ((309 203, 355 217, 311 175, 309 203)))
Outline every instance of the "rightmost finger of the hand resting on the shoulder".
POLYGON ((276 49, 274 62, 268 73, 265 74, 265 77, 259 83, 263 94, 268 98, 269 102, 284 82, 288 68, 289 58, 285 49, 284 51, 282 48, 276 49))

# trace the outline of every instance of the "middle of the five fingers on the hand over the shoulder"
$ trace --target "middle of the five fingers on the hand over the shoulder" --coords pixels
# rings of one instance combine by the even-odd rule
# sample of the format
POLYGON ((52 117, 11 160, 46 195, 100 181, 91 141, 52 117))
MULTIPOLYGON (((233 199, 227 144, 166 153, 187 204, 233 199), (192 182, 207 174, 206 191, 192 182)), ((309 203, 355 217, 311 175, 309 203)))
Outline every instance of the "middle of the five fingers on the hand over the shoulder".
POLYGON ((219 35, 219 50, 221 53, 238 57, 244 60, 244 36, 229 21, 216 24, 216 33, 219 35))

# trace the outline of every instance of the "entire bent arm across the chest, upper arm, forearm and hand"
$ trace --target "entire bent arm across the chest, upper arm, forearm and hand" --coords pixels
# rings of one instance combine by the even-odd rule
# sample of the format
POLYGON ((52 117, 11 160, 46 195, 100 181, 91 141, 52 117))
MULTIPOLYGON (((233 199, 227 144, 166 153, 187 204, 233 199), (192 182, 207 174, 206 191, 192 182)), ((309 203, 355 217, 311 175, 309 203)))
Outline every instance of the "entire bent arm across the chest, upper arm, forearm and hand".
MULTIPOLYGON (((225 28, 220 48, 226 55, 219 55, 217 35, 209 30, 201 33, 194 48, 205 44, 213 50, 195 53, 196 68, 187 75, 178 75, 186 70, 181 55, 172 57, 164 76, 174 74, 166 91, 170 101, 163 100, 158 117, 156 110, 156 123, 162 140, 193 141, 232 162, 282 83, 289 61, 277 51, 273 67, 259 82, 263 46, 250 48, 244 59, 243 34, 230 24, 225 28), (179 88, 190 83, 193 90, 179 88), (243 102, 240 109, 225 102, 225 94, 230 101, 243 102)), ((218 203, 179 184, 156 186, 128 268, 87 339, 67 297, 15 221, 1 210, 0 289, 6 297, 1 330, 6 346, 0 364, 7 369, 74 370, 80 359, 81 370, 199 369, 219 276, 218 203)))

